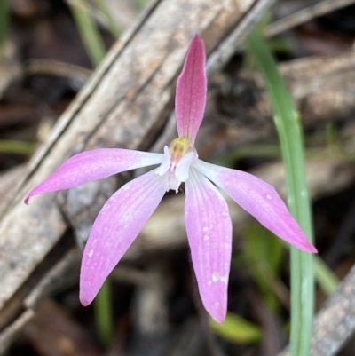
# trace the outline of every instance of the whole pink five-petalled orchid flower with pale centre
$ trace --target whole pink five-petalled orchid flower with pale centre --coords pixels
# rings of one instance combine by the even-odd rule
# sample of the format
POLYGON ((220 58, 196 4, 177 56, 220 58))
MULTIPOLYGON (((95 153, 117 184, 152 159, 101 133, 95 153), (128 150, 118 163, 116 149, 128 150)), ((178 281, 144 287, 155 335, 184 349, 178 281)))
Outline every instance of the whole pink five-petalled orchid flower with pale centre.
POLYGON ((163 154, 103 148, 75 154, 43 183, 36 194, 81 186, 125 170, 159 165, 122 186, 100 210, 83 251, 80 300, 89 305, 106 277, 136 239, 165 192, 185 183, 185 225, 201 300, 218 322, 225 320, 232 255, 232 222, 221 188, 262 225, 298 249, 317 252, 275 189, 243 172, 203 162, 194 142, 203 118, 207 79, 205 49, 194 36, 177 79, 178 138, 163 154))

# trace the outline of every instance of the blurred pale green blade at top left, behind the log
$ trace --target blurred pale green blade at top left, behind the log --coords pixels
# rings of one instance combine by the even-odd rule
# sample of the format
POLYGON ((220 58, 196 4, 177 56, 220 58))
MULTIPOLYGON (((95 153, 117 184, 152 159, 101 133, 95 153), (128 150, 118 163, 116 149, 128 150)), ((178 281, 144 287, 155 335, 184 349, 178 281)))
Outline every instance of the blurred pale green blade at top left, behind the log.
POLYGON ((91 63, 93 67, 97 67, 106 54, 105 44, 99 34, 99 28, 96 26, 95 21, 92 20, 83 0, 70 0, 68 4, 91 63))

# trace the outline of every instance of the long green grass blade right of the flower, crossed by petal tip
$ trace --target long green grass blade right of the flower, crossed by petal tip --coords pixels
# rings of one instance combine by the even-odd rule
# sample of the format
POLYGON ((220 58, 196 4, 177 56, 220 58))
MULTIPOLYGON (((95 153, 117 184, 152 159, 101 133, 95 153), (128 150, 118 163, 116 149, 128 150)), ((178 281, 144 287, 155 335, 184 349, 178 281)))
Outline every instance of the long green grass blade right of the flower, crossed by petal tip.
MULTIPOLYGON (((272 53, 263 37, 254 30, 248 47, 264 76, 279 133, 288 186, 288 207, 312 241, 312 213, 304 169, 304 138, 299 115, 272 53)), ((308 356, 311 349, 314 304, 313 256, 291 248, 291 336, 292 356, 308 356)))

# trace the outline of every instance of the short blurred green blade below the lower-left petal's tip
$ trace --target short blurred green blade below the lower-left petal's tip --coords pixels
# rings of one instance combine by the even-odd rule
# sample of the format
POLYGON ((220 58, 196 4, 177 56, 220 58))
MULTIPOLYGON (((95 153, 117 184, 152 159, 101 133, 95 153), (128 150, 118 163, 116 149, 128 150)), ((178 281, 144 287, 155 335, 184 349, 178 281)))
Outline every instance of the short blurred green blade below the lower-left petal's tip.
POLYGON ((94 312, 99 341, 107 346, 114 337, 111 281, 107 279, 94 300, 94 312))

